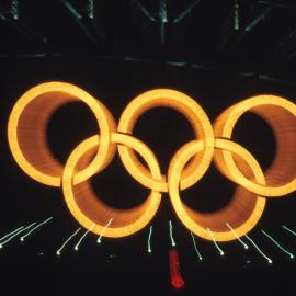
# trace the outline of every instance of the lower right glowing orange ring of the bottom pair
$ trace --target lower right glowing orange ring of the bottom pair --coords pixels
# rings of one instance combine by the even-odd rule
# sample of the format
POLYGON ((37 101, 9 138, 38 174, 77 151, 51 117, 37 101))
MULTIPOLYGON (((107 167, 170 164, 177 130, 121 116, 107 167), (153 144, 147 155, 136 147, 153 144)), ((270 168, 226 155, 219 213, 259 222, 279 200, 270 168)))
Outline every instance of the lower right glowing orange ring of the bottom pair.
MULTIPOLYGON (((264 175, 259 163, 243 147, 229 140, 216 139, 215 148, 231 151, 242 158, 252 170, 255 180, 264 183, 264 175)), ((261 218, 265 198, 238 187, 231 202, 214 213, 198 213, 183 204, 179 194, 182 170, 187 161, 203 149, 204 143, 195 140, 184 145, 173 157, 169 168, 169 193, 173 208, 183 225, 196 236, 213 240, 207 231, 208 228, 217 241, 234 240, 236 237, 226 223, 231 225, 238 237, 248 234, 261 218)))

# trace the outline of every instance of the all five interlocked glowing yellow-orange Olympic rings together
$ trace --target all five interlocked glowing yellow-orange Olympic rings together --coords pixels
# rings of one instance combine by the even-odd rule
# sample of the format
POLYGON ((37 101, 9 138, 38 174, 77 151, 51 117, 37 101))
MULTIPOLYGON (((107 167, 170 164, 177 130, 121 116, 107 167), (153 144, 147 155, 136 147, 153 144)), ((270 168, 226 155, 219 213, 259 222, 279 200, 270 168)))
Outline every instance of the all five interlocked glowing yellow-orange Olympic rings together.
POLYGON ((125 237, 143 229, 155 216, 162 193, 170 196, 183 225, 195 235, 217 241, 236 239, 227 224, 240 237, 261 218, 265 197, 283 196, 296 190, 296 105, 275 95, 257 95, 224 111, 214 130, 204 110, 179 91, 158 89, 135 98, 124 110, 118 127, 109 110, 80 88, 65 82, 48 82, 25 92, 12 109, 8 124, 12 156, 34 180, 61 186, 73 217, 90 231, 105 237, 125 237), (46 126, 52 114, 62 104, 82 101, 95 116, 100 129, 73 149, 65 167, 46 145, 46 126), (146 111, 166 106, 180 112, 192 125, 195 139, 173 156, 167 174, 161 174, 157 158, 149 147, 132 136, 133 128, 146 111), (246 112, 261 116, 272 127, 277 145, 275 159, 262 172, 255 158, 231 140, 236 123, 246 112), (127 172, 150 190, 146 201, 132 209, 116 209, 101 202, 88 180, 107 167, 118 153, 127 172), (141 164, 140 155, 148 168, 141 164), (237 184, 232 200, 223 209, 203 214, 193 210, 180 197, 180 190, 198 182, 212 159, 218 170, 237 184), (112 218, 110 227, 104 229, 112 218))

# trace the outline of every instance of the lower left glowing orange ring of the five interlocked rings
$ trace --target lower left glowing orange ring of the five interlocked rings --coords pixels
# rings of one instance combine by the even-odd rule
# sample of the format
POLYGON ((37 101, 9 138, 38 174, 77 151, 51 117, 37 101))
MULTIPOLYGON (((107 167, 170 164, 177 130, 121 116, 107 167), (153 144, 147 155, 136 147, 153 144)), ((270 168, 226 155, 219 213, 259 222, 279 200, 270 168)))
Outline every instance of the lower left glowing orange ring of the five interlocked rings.
MULTIPOLYGON (((76 185, 79 194, 76 195, 72 185, 73 172, 79 160, 84 155, 96 149, 99 137, 93 136, 82 141, 70 155, 62 174, 62 192, 66 204, 73 217, 90 231, 102 235, 105 224, 113 218, 110 227, 104 229, 104 237, 126 237, 143 229, 158 210, 161 193, 152 190, 147 200, 138 207, 132 209, 115 209, 96 198, 89 186, 89 182, 76 185), (83 212, 84 210, 84 212, 83 212), (87 213, 88 212, 88 213, 87 213)), ((111 141, 119 146, 125 145, 135 149, 147 162, 151 175, 161 179, 158 161, 151 150, 140 140, 123 134, 113 133, 111 141)), ((86 159, 84 159, 86 161, 86 159)))

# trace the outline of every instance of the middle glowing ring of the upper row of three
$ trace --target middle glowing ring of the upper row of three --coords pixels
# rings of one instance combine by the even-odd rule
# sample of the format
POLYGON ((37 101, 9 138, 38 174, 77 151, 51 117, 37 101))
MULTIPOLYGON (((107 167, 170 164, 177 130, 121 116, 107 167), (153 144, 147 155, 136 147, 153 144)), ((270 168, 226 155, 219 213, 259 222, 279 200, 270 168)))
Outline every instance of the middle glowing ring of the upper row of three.
MULTIPOLYGON (((183 114, 192 125, 196 138, 205 141, 202 156, 194 158, 182 173, 181 190, 187 189, 206 172, 214 153, 214 133, 210 122, 204 110, 193 99, 182 92, 169 89, 144 92, 136 96, 124 110, 118 123, 118 132, 132 134, 139 116, 146 111, 158 106, 170 107, 183 114)), ((147 168, 141 164, 130 148, 121 146, 118 151, 124 166, 133 166, 135 172, 133 177, 140 184, 161 192, 168 192, 164 175, 161 177, 162 181, 153 180, 147 168)))

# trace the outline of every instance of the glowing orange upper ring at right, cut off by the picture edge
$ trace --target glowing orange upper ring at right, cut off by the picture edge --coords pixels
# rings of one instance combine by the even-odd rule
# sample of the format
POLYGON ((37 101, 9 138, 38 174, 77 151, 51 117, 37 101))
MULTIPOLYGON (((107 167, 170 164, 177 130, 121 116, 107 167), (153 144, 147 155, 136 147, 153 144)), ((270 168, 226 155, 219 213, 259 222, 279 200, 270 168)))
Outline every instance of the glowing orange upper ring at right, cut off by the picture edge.
POLYGON ((257 95, 241 101, 224 111, 214 124, 216 137, 231 139, 238 119, 246 112, 262 117, 272 128, 276 140, 276 156, 264 172, 265 183, 253 182, 240 171, 231 152, 215 153, 215 163, 237 184, 266 197, 286 195, 296 189, 296 105, 276 95, 257 95))

